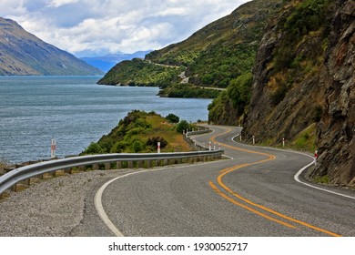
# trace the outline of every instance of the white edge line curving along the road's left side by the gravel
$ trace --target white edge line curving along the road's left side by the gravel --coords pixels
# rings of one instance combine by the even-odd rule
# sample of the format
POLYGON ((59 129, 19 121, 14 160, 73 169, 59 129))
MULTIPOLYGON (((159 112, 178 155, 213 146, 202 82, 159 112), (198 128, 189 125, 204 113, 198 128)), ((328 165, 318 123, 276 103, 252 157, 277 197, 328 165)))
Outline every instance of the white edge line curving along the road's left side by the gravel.
MULTIPOLYGON (((204 163, 199 163, 198 165, 206 165, 206 164, 213 164, 213 163, 218 163, 218 161, 204 162, 204 163)), ((174 167, 174 168, 185 168, 185 167, 186 166, 179 166, 179 167, 174 167)), ((98 216, 102 219, 102 221, 104 221, 107 228, 109 230, 111 230, 115 234, 115 236, 124 237, 122 232, 116 228, 114 223, 108 218, 108 216, 106 214, 106 211, 105 211, 104 206, 102 204, 102 194, 104 193, 104 190, 107 188, 108 185, 110 185, 112 182, 116 181, 117 179, 123 179, 123 178, 126 178, 127 176, 135 175, 135 174, 139 174, 139 173, 143 173, 143 172, 161 171, 161 170, 165 170, 165 169, 167 169, 167 167, 157 168, 157 169, 140 170, 140 171, 138 170, 137 172, 128 173, 126 175, 119 176, 117 178, 108 180, 103 186, 100 187, 100 189, 98 189, 96 191, 95 198, 94 198, 94 204, 95 204, 95 208, 98 213, 98 216)))

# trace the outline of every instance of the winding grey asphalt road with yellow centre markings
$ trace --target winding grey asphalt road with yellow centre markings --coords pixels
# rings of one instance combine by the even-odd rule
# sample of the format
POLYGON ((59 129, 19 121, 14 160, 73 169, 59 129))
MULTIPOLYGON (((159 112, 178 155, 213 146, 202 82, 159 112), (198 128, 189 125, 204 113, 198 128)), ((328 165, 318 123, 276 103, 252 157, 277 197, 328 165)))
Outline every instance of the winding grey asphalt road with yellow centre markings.
MULTIPOLYGON (((197 141, 212 137, 233 159, 134 172, 106 185, 102 210, 120 234, 355 236, 355 199, 295 181, 312 158, 235 143, 238 128, 211 128, 197 141)), ((86 235, 114 234, 101 221, 87 223, 86 235)))

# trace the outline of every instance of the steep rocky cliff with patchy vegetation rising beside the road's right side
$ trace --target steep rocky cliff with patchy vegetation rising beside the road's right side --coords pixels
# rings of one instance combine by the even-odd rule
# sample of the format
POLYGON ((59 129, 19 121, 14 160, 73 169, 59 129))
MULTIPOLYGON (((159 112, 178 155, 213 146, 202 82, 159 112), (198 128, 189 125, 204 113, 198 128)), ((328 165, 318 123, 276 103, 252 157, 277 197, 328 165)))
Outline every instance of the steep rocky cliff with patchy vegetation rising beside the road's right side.
POLYGON ((245 138, 269 144, 313 127, 320 164, 311 176, 345 185, 355 184, 354 16, 353 0, 289 1, 260 44, 243 125, 245 138))

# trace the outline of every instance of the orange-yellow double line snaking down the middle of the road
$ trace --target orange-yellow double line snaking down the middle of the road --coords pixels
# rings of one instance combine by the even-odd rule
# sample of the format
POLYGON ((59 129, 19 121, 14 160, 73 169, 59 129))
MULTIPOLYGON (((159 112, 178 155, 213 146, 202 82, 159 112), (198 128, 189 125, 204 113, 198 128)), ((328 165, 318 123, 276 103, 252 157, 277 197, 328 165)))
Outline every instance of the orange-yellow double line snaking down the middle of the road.
MULTIPOLYGON (((211 140, 213 142, 216 142, 215 138, 217 138, 219 136, 222 136, 222 135, 225 135, 225 134, 228 134, 230 132, 231 132, 231 129, 228 129, 226 132, 212 137, 211 140)), ((229 202, 233 203, 234 205, 237 205, 237 206, 239 206, 239 207, 241 207, 243 209, 247 209, 250 212, 253 212, 253 213, 255 213, 255 214, 257 214, 257 215, 259 215, 259 216, 261 216, 261 217, 263 217, 265 219, 269 219, 271 221, 277 222, 280 225, 283 225, 283 226, 288 227, 290 229, 298 229, 298 228, 295 225, 292 225, 291 223, 288 223, 288 222, 286 222, 284 220, 281 220, 281 219, 289 220, 290 222, 297 223, 297 224, 299 224, 301 226, 307 227, 307 228, 312 229, 312 230, 320 231, 320 232, 325 233, 325 234, 330 235, 330 236, 340 237, 339 234, 333 233, 333 232, 331 232, 329 230, 320 229, 318 227, 310 225, 309 223, 303 222, 303 221, 301 221, 299 219, 293 219, 293 218, 291 218, 289 216, 286 216, 286 215, 284 215, 282 213, 279 213, 278 211, 275 211, 273 209, 269 209, 269 208, 267 208, 265 206, 259 205, 258 203, 252 202, 249 199, 245 199, 242 196, 240 196, 237 193, 235 193, 232 189, 229 189, 228 186, 222 181, 223 177, 228 175, 228 173, 230 173, 232 171, 235 171, 235 170, 237 170, 239 168, 245 168, 245 167, 249 167, 249 166, 252 166, 252 165, 266 163, 268 161, 274 160, 276 157, 274 155, 272 155, 272 154, 269 154, 269 153, 263 153, 263 152, 249 150, 249 149, 245 149, 245 148, 237 148, 237 147, 229 146, 229 145, 223 144, 223 143, 219 143, 219 144, 221 144, 225 148, 231 148, 231 149, 235 149, 235 150, 239 150, 239 151, 248 152, 248 153, 257 154, 257 155, 261 155, 261 156, 266 156, 267 157, 266 159, 262 159, 262 160, 259 160, 259 161, 255 161, 255 162, 251 162, 251 163, 244 163, 244 164, 240 164, 238 166, 234 166, 234 167, 231 167, 231 168, 225 168, 225 169, 220 170, 218 178, 217 178, 217 182, 218 182, 218 185, 222 189, 224 189, 224 191, 227 191, 227 194, 224 193, 221 189, 218 189, 218 187, 212 181, 209 181, 209 183, 208 183, 209 186, 219 196, 221 196, 223 199, 227 199, 229 202), (241 201, 244 202, 244 203, 241 203, 241 201), (252 206, 254 208, 257 208, 257 209, 261 209, 261 210, 254 209, 254 208, 252 208, 250 206, 252 206), (269 212, 269 214, 271 214, 273 217, 269 216, 268 214, 265 214, 263 211, 269 212), (277 217, 279 217, 281 219, 276 219, 275 216, 277 216, 277 217)))

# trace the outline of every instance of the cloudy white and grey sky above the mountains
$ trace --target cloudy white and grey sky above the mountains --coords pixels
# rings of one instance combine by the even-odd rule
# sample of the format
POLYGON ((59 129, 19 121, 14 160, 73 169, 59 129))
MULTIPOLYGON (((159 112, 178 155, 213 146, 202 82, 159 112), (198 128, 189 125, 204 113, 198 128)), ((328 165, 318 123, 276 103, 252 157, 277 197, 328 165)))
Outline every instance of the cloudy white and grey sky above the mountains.
POLYGON ((249 0, 1 0, 0 16, 76 56, 159 49, 249 0))

